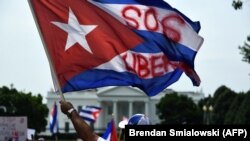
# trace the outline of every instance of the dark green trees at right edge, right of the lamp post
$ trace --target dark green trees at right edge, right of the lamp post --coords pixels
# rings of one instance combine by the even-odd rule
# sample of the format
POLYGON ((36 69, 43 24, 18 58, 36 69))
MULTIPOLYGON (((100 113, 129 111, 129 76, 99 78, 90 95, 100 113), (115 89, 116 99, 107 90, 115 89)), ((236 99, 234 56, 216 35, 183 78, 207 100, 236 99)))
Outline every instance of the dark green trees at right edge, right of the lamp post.
POLYGON ((211 98, 214 107, 211 119, 213 124, 250 124, 250 91, 236 93, 223 85, 211 98))

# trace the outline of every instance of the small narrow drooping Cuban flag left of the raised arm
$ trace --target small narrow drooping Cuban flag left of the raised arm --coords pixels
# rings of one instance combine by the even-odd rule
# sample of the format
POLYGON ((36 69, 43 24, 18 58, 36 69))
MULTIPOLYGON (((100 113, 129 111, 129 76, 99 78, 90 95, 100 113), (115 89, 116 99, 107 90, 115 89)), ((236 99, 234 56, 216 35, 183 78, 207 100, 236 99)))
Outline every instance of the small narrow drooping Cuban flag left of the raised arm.
POLYGON ((57 105, 54 102, 54 105, 50 112, 50 120, 49 120, 49 129, 52 134, 58 132, 58 120, 57 120, 57 105))

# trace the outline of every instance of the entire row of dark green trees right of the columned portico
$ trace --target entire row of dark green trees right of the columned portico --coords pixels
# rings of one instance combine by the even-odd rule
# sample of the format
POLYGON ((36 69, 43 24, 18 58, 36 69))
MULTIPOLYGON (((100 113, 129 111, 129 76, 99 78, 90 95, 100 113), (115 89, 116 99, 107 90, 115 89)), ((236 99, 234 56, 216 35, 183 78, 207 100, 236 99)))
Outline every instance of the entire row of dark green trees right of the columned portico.
POLYGON ((225 85, 196 105, 191 98, 166 94, 156 105, 160 124, 249 125, 250 90, 236 93, 225 85), (207 109, 202 111, 204 105, 207 109), (212 107, 212 109, 209 109, 212 107))

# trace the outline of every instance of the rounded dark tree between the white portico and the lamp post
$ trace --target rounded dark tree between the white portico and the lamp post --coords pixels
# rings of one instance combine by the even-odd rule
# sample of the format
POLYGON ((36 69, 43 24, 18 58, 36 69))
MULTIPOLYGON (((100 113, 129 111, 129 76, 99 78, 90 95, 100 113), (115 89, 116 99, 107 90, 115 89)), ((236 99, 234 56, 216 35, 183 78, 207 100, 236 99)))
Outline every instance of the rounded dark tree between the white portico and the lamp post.
POLYGON ((202 111, 193 100, 177 93, 166 94, 156 105, 160 124, 201 124, 202 111))

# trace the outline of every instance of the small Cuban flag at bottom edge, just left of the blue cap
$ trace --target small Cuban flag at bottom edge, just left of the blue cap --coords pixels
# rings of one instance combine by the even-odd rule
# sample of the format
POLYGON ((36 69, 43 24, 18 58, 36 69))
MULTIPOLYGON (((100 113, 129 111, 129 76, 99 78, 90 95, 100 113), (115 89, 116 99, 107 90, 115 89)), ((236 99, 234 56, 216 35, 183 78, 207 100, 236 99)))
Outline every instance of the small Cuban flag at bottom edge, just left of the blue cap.
POLYGON ((111 121, 108 123, 107 129, 102 135, 102 138, 106 141, 118 141, 115 123, 113 119, 111 119, 111 121))

